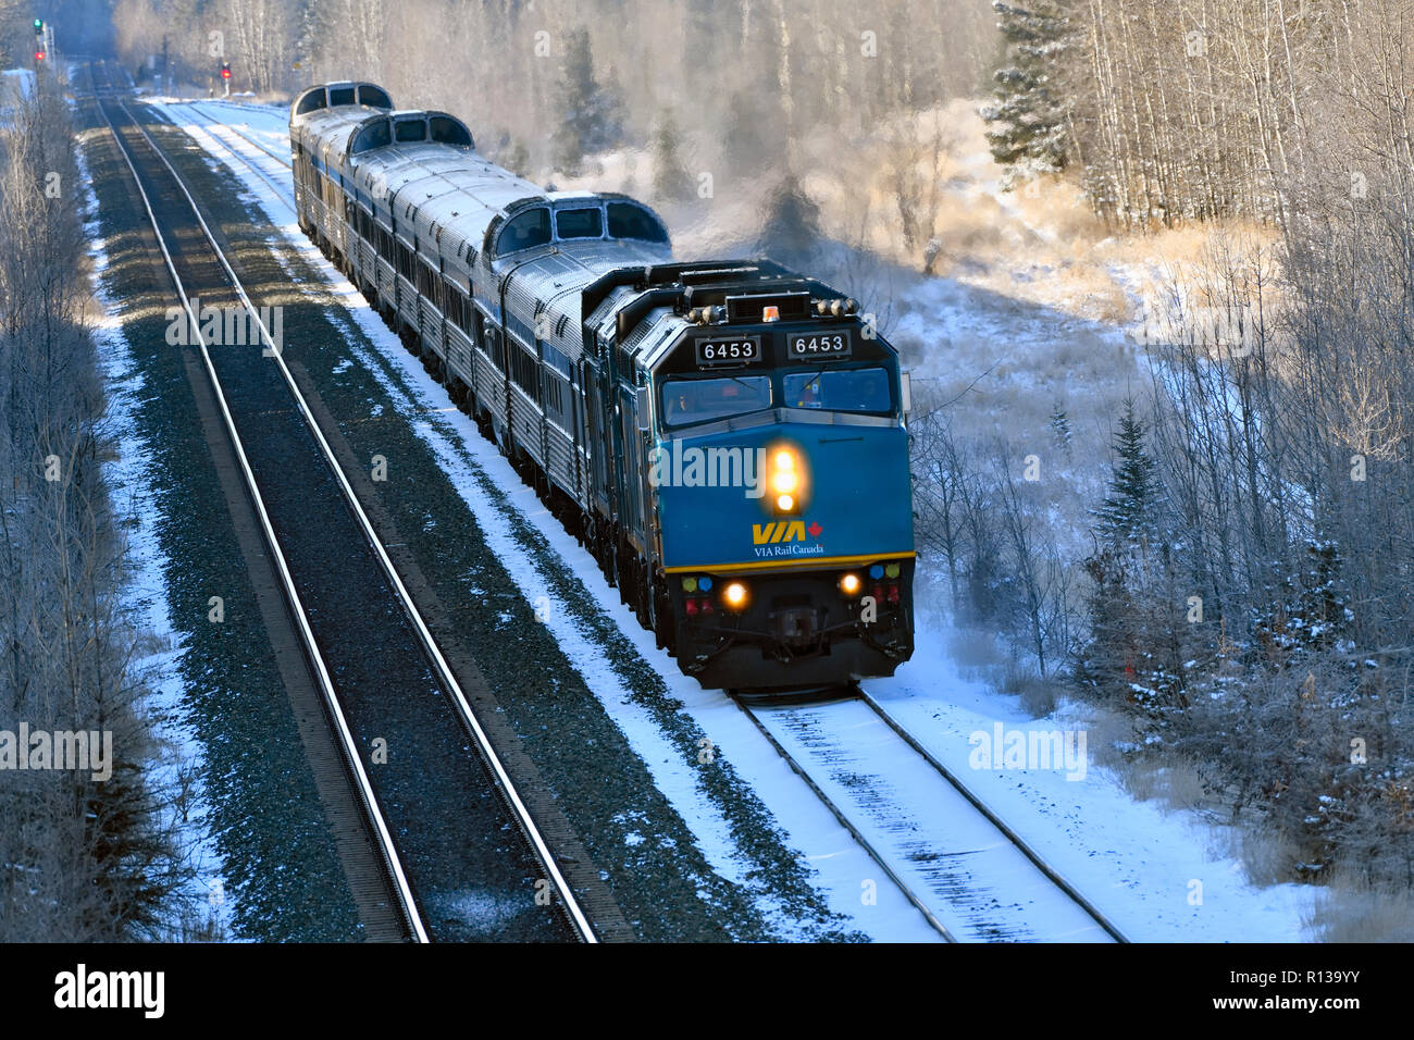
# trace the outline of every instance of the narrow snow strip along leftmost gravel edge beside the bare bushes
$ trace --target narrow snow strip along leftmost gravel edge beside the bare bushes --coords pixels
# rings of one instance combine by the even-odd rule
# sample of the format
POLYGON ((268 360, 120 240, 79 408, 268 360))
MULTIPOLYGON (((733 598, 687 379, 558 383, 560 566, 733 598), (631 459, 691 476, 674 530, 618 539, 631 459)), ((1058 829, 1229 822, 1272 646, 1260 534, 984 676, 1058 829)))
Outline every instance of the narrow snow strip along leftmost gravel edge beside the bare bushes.
POLYGON ((90 242, 93 296, 103 308, 103 317, 93 330, 93 340, 107 391, 112 422, 109 432, 117 441, 117 458, 105 463, 103 470, 116 512, 130 519, 126 526, 127 584, 123 589, 123 599, 133 623, 144 635, 151 637, 157 647, 132 665, 134 676, 144 681, 148 689, 143 709, 153 722, 153 736, 158 749, 148 778, 160 791, 175 791, 181 785, 180 777, 185 777, 189 788, 187 804, 165 804, 171 814, 167 824, 175 829, 187 857, 185 865, 194 872, 185 894, 197 907, 205 906, 204 913, 198 911, 202 915, 194 924, 205 924, 209 918, 229 937, 236 907, 225 883, 225 867, 215 838, 206 825, 211 805, 201 781, 205 751, 194 730, 182 722, 184 685, 178 661, 185 647, 181 632, 173 625, 171 607, 167 601, 164 574, 170 562, 157 539, 160 512, 151 498, 151 488, 156 484, 148 474, 151 458, 137 436, 133 420, 143 392, 143 379, 136 371, 127 337, 123 334, 119 307, 102 283, 109 259, 96 216, 98 198, 93 195, 82 150, 76 151, 76 158, 79 181, 83 185, 83 205, 89 215, 83 231, 90 242))

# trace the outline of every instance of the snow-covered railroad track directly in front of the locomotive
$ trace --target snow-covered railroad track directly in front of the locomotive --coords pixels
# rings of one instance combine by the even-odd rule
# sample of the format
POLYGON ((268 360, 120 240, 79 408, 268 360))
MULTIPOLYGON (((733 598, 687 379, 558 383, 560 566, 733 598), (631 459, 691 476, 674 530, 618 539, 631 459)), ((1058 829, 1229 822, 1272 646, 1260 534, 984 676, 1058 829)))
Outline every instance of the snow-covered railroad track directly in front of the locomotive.
POLYGON ((1127 941, 867 692, 737 703, 949 942, 1127 941))

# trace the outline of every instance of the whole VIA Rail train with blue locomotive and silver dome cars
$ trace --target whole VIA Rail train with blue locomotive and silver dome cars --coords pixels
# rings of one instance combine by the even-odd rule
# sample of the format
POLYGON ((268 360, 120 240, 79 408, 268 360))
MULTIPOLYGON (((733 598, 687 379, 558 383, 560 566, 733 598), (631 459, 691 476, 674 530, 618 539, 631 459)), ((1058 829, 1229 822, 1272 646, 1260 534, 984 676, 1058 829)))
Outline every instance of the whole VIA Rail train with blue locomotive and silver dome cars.
POLYGON ((370 82, 290 108, 301 231, 706 688, 913 652, 908 375, 858 303, 766 258, 679 262, 617 192, 550 191, 370 82))

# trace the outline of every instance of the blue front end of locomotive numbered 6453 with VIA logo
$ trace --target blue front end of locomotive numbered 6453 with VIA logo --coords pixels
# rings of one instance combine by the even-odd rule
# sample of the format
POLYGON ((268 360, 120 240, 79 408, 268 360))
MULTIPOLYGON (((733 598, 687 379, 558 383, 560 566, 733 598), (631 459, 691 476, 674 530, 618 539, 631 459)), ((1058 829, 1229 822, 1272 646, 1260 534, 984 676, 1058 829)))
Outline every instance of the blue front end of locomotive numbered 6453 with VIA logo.
POLYGON ((898 354, 820 283, 686 297, 645 358, 682 666, 728 689, 892 675, 913 649, 898 354))

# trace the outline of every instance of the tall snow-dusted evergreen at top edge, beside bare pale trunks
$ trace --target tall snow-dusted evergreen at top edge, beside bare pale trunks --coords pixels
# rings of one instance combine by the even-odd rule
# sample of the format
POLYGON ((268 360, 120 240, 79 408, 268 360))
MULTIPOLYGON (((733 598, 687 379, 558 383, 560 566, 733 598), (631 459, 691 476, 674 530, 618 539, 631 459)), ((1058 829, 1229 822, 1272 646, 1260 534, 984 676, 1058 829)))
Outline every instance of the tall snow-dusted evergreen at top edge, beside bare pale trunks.
POLYGON ((1065 106, 1055 81, 1069 45, 1070 21, 1056 0, 1017 7, 994 0, 1007 42, 1007 65, 997 69, 997 100, 983 109, 993 157, 1004 166, 1062 170, 1066 161, 1065 106))

